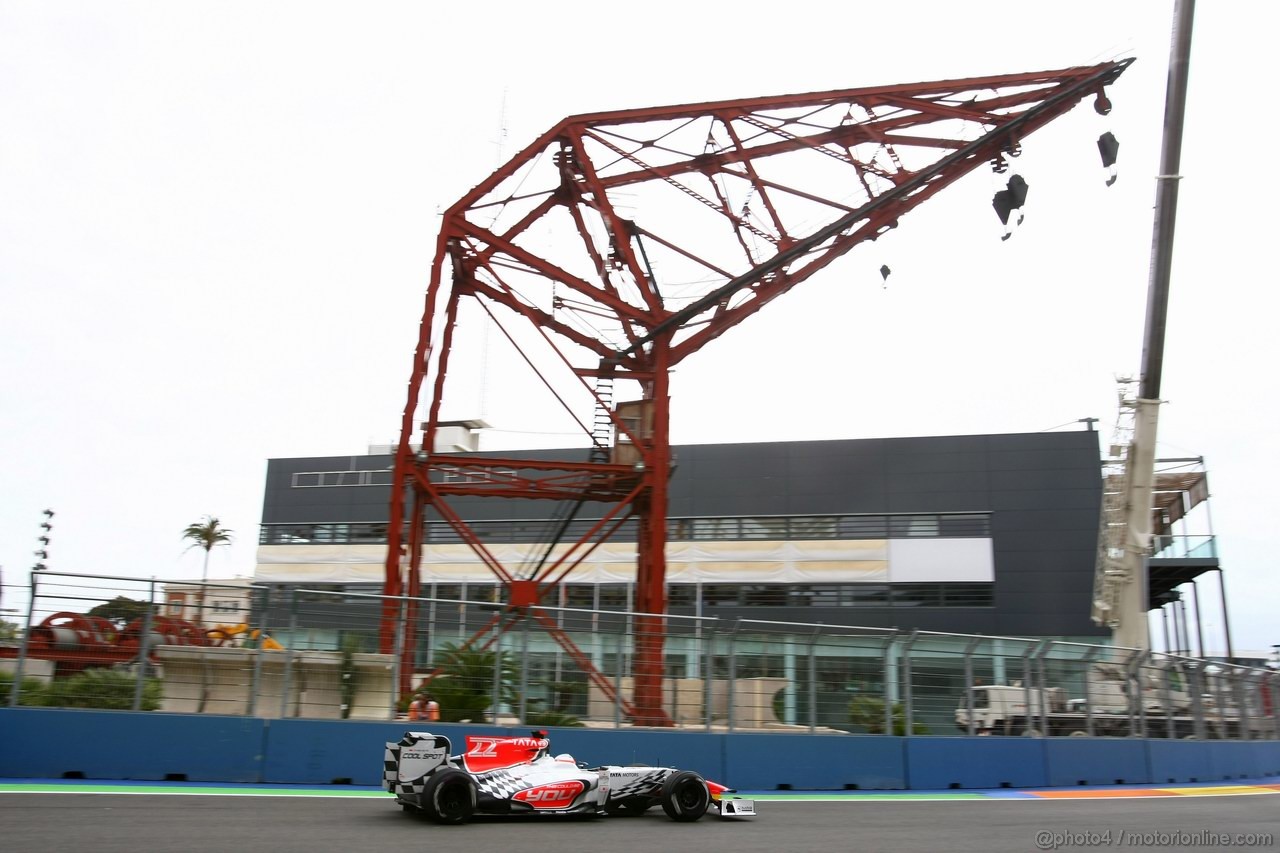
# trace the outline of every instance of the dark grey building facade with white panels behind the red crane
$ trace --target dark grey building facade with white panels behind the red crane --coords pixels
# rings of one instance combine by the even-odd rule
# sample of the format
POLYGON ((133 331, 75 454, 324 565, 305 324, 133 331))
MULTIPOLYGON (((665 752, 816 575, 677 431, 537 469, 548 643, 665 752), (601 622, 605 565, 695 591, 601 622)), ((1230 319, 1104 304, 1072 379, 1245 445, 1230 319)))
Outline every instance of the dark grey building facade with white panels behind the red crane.
MULTIPOLYGON (((1089 619, 1102 482, 1092 430, 675 448, 675 615, 1005 637, 1098 639, 1089 619)), ((563 459, 564 451, 481 453, 563 459)), ((376 592, 389 456, 268 465, 257 580, 376 592)), ((486 543, 545 543, 550 502, 458 500, 486 543)), ((599 517, 599 510, 594 510, 599 517)), ((590 524, 585 506, 570 535, 590 524)), ((500 599, 429 521, 424 594, 500 599)), ((634 540, 634 537, 632 537, 634 540)), ((462 546, 453 546, 462 548, 462 546)), ((570 576, 559 603, 625 610, 625 548, 570 576)), ((634 566, 631 567, 634 576, 634 566)))

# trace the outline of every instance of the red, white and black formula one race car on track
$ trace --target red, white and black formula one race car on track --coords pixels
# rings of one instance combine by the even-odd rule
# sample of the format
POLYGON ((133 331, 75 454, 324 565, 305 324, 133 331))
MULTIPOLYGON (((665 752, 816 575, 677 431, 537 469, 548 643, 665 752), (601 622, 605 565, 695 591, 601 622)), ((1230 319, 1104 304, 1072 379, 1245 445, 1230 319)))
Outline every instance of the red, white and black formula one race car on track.
POLYGON ((754 815, 750 799, 672 767, 588 767, 550 754, 545 731, 527 738, 467 735, 466 752, 451 754, 449 739, 408 731, 388 743, 383 788, 406 812, 438 824, 472 815, 643 815, 653 806, 673 821, 696 821, 714 807, 722 816, 754 815))

